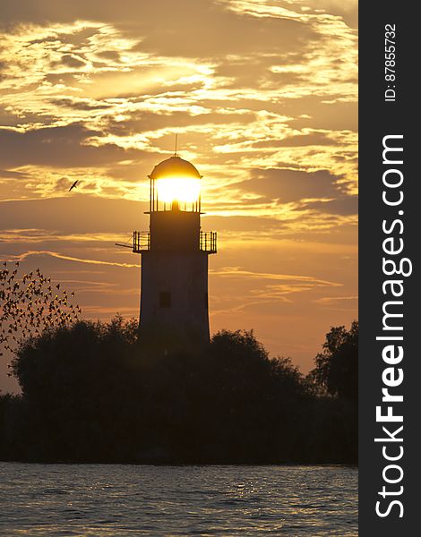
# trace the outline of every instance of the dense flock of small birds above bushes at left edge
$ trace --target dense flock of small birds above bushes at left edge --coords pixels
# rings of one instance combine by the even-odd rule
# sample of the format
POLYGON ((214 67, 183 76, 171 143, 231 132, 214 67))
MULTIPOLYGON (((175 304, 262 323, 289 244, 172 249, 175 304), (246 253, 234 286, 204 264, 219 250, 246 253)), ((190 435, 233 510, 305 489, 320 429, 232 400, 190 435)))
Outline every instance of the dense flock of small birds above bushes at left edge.
POLYGON ((19 265, 19 261, 0 265, 0 357, 4 351, 16 353, 21 341, 38 337, 47 328, 77 322, 82 313, 72 302, 74 291, 68 294, 39 268, 20 276, 19 265))

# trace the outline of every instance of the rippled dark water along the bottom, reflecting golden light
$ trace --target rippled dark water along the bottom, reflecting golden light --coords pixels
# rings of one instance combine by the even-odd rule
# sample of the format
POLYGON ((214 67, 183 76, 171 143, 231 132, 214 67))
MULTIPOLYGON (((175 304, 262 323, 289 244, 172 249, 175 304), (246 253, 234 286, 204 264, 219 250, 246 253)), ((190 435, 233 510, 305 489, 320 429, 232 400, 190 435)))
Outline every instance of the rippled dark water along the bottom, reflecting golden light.
POLYGON ((0 463, 0 535, 357 535, 346 466, 0 463))

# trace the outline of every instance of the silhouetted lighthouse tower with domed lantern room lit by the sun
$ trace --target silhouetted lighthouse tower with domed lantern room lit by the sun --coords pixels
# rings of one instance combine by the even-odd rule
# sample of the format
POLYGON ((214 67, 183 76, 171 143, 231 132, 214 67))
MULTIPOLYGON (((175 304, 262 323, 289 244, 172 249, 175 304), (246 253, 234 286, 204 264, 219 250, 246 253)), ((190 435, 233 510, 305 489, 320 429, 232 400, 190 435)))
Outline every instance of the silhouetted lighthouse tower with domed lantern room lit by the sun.
POLYGON ((208 256, 217 234, 201 228, 201 179, 175 153, 150 178, 150 229, 133 232, 142 256, 140 333, 168 348, 209 341, 208 256))

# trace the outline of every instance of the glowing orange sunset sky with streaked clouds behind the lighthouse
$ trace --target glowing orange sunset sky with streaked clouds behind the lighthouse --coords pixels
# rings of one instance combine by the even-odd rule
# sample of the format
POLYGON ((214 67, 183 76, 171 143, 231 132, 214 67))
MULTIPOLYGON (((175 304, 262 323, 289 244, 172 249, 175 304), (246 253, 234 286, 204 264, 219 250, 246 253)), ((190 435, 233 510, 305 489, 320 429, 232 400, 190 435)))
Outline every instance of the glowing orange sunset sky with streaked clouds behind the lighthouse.
POLYGON ((357 318, 356 25, 354 0, 3 0, 0 259, 85 318, 137 316, 140 259, 114 243, 147 229, 177 132, 218 232, 211 332, 308 371, 357 318))

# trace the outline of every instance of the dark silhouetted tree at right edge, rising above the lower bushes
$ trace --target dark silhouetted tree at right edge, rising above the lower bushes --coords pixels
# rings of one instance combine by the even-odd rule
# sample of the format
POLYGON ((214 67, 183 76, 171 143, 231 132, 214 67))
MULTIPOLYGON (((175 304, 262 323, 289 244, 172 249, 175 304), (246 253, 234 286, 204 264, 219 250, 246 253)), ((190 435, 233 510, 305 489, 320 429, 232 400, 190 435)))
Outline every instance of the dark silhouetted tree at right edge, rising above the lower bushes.
POLYGON ((358 396, 358 322, 349 330, 332 327, 326 334, 323 351, 314 359, 316 367, 309 379, 322 393, 357 401, 358 396))

